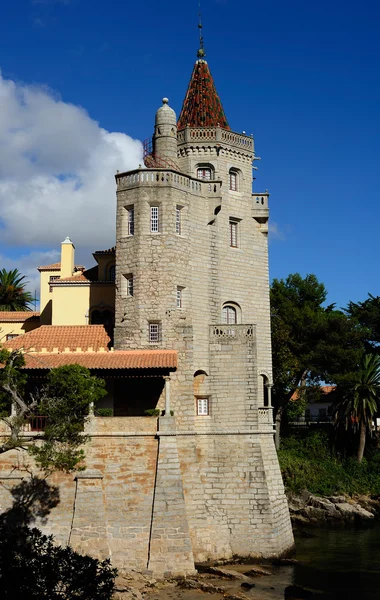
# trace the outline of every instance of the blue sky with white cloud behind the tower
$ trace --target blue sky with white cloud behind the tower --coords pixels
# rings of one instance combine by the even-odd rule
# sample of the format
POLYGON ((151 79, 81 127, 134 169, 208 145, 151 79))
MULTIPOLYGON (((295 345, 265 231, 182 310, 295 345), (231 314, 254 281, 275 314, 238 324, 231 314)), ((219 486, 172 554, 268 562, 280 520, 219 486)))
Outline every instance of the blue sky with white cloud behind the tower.
MULTIPOLYGON (((262 157, 271 276, 315 273, 338 306, 380 294, 380 4, 202 5, 227 118, 262 157)), ((113 245, 112 173, 139 161, 134 140, 151 135, 163 96, 179 112, 197 11, 197 0, 3 0, 0 267, 34 285, 33 265, 57 260, 66 235, 87 265, 113 245)))

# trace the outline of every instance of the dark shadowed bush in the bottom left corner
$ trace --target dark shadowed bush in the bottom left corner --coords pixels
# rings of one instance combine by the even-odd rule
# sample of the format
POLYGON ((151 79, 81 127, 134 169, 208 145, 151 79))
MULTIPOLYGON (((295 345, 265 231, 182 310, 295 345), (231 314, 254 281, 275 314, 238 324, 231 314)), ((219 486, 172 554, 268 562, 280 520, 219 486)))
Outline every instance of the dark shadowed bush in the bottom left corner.
POLYGON ((0 524, 3 600, 109 600, 115 576, 108 560, 56 546, 38 529, 0 524))

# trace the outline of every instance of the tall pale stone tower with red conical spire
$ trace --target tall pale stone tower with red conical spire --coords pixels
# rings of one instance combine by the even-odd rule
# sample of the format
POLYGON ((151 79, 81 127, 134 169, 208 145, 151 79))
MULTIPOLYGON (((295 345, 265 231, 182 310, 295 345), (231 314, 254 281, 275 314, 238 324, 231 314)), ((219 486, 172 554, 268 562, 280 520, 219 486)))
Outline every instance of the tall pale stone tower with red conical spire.
POLYGON ((201 53, 178 123, 164 98, 145 168, 116 176, 115 348, 178 352, 159 419, 156 572, 168 570, 162 554, 190 572, 193 560, 293 544, 270 402, 268 193, 252 193, 254 160, 201 53), (171 506, 183 538, 175 556, 171 506))

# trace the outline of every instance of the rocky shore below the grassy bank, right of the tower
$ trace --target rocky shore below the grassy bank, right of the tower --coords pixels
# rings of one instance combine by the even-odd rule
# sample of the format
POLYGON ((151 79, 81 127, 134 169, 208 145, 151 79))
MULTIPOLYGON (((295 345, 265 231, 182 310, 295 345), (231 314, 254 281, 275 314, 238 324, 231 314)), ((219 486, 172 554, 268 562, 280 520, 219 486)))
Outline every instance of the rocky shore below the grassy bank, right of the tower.
POLYGON ((304 491, 288 498, 293 526, 344 526, 380 518, 380 499, 369 496, 314 496, 304 491))

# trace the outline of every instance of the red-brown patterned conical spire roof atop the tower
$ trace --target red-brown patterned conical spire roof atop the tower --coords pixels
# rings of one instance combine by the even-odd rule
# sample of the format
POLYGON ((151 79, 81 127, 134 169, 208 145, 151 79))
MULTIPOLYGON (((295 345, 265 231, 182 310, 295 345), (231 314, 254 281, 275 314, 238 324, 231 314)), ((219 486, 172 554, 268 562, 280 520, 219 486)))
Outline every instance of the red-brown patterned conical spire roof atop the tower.
POLYGON ((217 126, 230 129, 208 64, 205 60, 197 60, 178 119, 178 129, 217 126))

